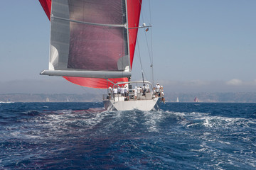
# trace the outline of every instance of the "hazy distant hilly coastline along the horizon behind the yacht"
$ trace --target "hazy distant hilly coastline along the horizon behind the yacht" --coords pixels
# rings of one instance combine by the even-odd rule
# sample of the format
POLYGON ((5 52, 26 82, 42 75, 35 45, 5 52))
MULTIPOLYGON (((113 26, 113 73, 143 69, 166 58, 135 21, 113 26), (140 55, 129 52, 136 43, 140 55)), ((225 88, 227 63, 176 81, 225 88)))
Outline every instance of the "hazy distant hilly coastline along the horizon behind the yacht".
MULTIPOLYGON (((166 101, 194 102, 198 98, 205 103, 256 103, 256 93, 165 93, 166 101)), ((0 94, 0 101, 14 102, 98 102, 100 94, 0 94)))

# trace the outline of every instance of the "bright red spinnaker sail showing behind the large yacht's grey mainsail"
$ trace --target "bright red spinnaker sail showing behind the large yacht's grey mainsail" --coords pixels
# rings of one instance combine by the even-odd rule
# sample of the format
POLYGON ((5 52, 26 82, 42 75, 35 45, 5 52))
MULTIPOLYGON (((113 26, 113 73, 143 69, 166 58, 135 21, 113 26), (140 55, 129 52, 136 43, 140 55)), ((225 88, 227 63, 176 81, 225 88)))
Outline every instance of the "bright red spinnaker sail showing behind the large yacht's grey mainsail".
MULTIPOLYGON (((48 19, 50 20, 50 9, 51 0, 39 0, 43 10, 46 12, 48 19)), ((127 16, 128 16, 128 26, 129 28, 134 28, 139 26, 139 16, 142 8, 142 0, 128 0, 127 1, 127 16)), ((129 54, 130 54, 130 64, 132 68, 132 62, 134 59, 134 50, 136 46, 138 29, 129 29, 129 54)), ((64 77, 66 80, 72 82, 73 84, 78 84, 80 86, 86 86, 97 89, 107 89, 112 86, 110 81, 117 83, 118 81, 128 81, 128 78, 118 78, 118 79, 99 79, 99 78, 81 78, 81 77, 64 77)))

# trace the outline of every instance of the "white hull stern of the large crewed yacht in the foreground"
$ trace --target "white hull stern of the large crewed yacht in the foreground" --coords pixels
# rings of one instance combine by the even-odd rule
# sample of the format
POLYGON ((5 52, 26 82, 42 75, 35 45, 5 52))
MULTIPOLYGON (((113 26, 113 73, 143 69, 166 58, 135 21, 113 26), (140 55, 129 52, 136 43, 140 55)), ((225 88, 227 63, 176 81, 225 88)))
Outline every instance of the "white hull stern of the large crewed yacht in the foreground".
POLYGON ((152 98, 149 100, 130 100, 130 101, 114 101, 114 99, 103 100, 104 107, 107 111, 131 111, 138 109, 139 111, 159 111, 159 103, 161 98, 152 98))

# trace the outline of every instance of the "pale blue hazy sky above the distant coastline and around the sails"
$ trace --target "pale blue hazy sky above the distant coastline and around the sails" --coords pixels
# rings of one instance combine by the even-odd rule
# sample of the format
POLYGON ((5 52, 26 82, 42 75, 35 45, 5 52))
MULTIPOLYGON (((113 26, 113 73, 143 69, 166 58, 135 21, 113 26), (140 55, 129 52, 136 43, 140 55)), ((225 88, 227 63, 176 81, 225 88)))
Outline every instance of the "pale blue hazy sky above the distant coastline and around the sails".
MULTIPOLYGON (((151 0, 155 83, 174 92, 256 92, 255 8, 255 0, 151 0)), ((146 24, 148 10, 143 8, 146 24)), ((1 94, 90 91, 39 75, 48 69, 50 37, 39 1, 3 1, 0 19, 1 94)), ((144 42, 139 39, 142 51, 144 42)), ((138 61, 135 57, 132 79, 141 79, 138 61)), ((149 72, 149 64, 143 67, 149 72)))

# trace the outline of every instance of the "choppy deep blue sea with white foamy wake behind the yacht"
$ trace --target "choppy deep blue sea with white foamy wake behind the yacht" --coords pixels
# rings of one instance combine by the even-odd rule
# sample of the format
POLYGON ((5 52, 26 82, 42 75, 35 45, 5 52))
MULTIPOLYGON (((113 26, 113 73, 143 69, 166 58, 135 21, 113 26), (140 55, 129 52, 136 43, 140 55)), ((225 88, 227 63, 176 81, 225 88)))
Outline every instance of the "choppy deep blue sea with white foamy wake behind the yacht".
POLYGON ((0 103, 0 169, 256 169, 256 103, 0 103))

